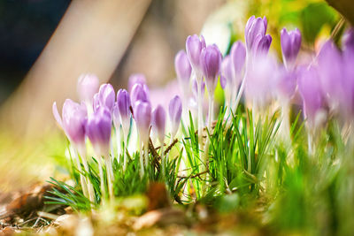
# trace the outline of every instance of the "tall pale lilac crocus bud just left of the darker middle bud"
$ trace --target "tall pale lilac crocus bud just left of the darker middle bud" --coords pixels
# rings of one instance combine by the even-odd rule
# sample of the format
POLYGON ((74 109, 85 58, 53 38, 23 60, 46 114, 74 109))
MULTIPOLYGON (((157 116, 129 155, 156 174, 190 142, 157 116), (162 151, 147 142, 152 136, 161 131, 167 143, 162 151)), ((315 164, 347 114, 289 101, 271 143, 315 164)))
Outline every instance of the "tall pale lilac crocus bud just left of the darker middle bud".
MULTIPOLYGON (((186 49, 187 55, 189 57, 190 65, 192 65, 193 70, 196 72, 197 77, 200 77, 201 73, 201 63, 200 63, 200 54, 205 48, 205 40, 203 35, 198 37, 198 35, 193 34, 187 37, 186 49)), ((200 80, 201 78, 197 78, 200 80)))

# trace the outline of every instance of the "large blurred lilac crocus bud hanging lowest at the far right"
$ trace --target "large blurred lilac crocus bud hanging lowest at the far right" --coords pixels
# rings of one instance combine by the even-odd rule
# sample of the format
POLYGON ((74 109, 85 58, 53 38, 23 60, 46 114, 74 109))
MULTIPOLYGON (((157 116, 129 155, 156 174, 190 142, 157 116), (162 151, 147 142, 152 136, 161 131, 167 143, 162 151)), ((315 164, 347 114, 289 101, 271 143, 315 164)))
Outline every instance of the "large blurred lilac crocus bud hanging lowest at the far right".
POLYGON ((300 72, 298 89, 303 98, 304 117, 307 118, 310 126, 315 127, 316 116, 323 105, 319 74, 315 68, 303 69, 300 72))

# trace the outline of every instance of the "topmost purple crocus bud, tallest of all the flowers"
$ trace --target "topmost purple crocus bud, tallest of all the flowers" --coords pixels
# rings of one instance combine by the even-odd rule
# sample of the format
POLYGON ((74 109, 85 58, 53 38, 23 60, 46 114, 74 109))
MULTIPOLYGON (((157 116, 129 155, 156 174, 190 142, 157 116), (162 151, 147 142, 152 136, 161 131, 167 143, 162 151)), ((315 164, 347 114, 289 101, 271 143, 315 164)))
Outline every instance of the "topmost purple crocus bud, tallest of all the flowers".
POLYGON ((247 50, 251 52, 254 46, 257 46, 258 42, 266 35, 267 21, 266 17, 263 19, 255 16, 251 16, 247 21, 244 37, 246 41, 247 50))

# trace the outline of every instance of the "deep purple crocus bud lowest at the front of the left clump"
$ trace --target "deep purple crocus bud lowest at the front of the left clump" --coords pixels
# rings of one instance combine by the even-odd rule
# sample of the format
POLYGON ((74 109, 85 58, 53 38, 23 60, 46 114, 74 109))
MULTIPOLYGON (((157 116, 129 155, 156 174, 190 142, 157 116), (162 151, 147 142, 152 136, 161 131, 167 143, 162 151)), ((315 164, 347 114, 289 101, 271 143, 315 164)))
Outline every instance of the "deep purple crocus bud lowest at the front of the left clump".
POLYGON ((107 156, 110 150, 112 132, 111 111, 107 107, 100 106, 89 117, 86 125, 86 133, 95 152, 99 156, 107 156))

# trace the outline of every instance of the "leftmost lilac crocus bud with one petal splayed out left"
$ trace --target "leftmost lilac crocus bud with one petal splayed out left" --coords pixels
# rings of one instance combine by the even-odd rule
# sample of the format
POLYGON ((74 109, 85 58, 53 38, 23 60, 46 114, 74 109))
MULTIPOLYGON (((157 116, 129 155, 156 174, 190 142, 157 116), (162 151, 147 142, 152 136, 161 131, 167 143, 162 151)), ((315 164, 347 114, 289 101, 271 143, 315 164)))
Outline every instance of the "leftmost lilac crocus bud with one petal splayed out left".
POLYGON ((53 115, 58 124, 63 128, 67 138, 74 145, 81 148, 85 145, 85 125, 87 121, 87 110, 85 104, 74 103, 66 99, 63 105, 62 118, 60 118, 57 103, 53 103, 53 115))

